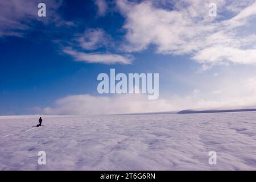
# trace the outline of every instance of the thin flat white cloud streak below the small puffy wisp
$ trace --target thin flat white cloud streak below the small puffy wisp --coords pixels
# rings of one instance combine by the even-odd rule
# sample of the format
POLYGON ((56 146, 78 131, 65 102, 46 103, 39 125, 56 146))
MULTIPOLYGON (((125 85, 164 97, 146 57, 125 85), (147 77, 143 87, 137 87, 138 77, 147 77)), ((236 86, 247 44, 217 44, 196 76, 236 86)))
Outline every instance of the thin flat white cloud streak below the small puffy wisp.
POLYGON ((130 55, 121 56, 109 53, 84 53, 73 50, 72 48, 64 48, 64 53, 74 57, 76 61, 84 61, 86 63, 102 63, 102 64, 131 64, 133 57, 130 55))

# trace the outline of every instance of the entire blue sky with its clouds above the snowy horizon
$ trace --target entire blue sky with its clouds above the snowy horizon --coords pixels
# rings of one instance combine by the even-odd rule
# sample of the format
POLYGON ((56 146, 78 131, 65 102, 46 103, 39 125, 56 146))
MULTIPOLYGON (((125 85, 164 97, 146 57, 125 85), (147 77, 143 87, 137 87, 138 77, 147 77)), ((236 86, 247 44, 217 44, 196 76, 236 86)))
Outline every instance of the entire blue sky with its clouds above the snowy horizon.
POLYGON ((0 114, 256 105, 255 1, 0 3, 0 114), (159 73, 159 99, 98 94, 97 75, 159 73))

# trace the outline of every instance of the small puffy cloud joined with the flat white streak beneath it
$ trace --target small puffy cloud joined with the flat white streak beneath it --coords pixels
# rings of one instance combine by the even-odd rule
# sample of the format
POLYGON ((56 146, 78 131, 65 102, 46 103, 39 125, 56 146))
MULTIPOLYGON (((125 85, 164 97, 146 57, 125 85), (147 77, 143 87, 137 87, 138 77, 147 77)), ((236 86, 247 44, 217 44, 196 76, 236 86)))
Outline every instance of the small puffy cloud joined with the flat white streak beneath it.
POLYGON ((74 38, 69 41, 70 46, 64 47, 63 52, 71 55, 75 61, 86 63, 131 64, 134 59, 133 56, 108 52, 112 44, 112 38, 104 30, 90 28, 83 34, 74 35, 74 38), (99 48, 104 49, 104 51, 98 52, 97 49, 99 48))

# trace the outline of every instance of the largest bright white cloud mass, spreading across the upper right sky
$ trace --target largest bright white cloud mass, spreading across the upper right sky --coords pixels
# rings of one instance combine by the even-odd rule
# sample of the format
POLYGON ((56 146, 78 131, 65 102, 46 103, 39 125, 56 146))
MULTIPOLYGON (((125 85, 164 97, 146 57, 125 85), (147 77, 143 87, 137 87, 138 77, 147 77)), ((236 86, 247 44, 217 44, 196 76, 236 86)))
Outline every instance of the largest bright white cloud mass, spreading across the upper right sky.
MULTIPOLYGON (((194 55, 193 60, 204 63, 204 67, 208 68, 212 64, 255 64, 256 35, 241 32, 238 28, 255 18, 256 3, 249 0, 238 6, 224 0, 171 2, 172 10, 163 9, 151 1, 130 3, 118 0, 117 6, 126 18, 123 28, 127 31, 127 42, 123 49, 142 51, 154 44, 157 53, 191 54, 194 55), (210 2, 217 4, 218 19, 208 16, 210 2), (240 12, 237 12, 238 7, 240 12), (231 10, 236 15, 225 19, 222 12, 231 10)), ((249 23, 248 26, 251 25, 249 23)))

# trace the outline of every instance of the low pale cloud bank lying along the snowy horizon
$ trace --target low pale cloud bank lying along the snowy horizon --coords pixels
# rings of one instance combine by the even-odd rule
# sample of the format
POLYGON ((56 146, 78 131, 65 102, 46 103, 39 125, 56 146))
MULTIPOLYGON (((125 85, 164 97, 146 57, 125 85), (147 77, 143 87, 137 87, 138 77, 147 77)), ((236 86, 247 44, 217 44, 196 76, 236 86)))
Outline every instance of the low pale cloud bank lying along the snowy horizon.
POLYGON ((187 96, 170 96, 147 100, 146 94, 115 94, 91 96, 80 94, 55 101, 53 107, 41 109, 44 114, 126 114, 177 111, 184 109, 224 109, 254 106, 256 103, 256 77, 230 83, 211 91, 195 89, 187 96), (207 94, 205 94, 207 93, 207 94))

